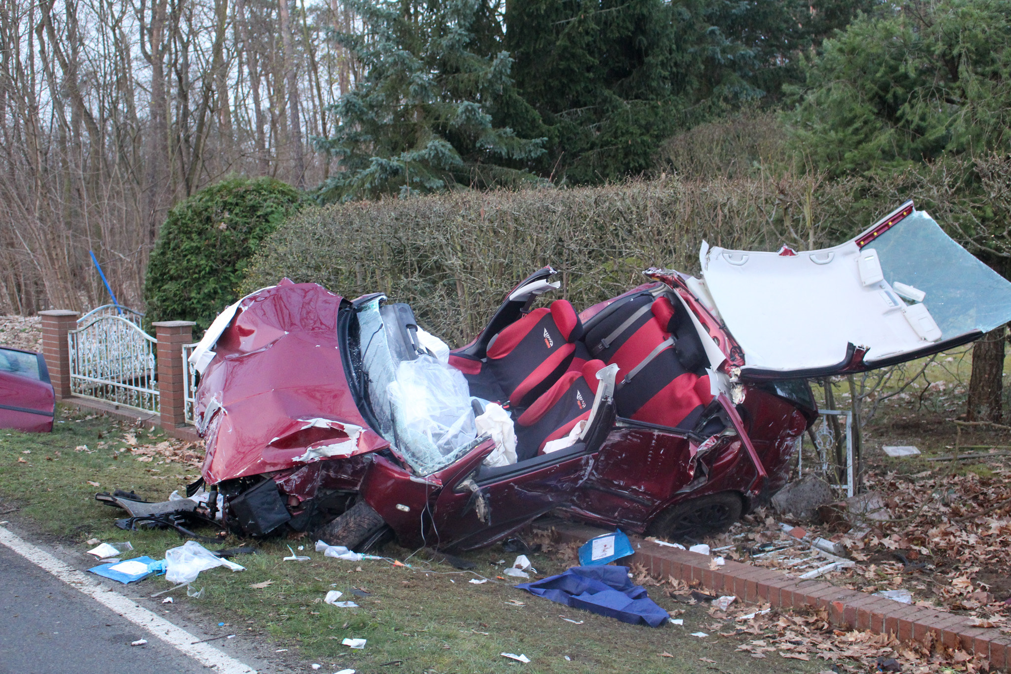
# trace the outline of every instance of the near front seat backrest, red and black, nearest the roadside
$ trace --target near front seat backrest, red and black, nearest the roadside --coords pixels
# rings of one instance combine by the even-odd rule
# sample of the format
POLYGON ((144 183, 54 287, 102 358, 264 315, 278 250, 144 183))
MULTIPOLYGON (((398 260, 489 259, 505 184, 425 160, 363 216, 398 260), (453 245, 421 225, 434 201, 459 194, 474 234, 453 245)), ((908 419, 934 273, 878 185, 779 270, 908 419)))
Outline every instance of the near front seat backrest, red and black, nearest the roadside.
POLYGON ((517 456, 525 461, 537 456, 552 440, 564 438, 572 427, 589 418, 604 361, 587 361, 579 371, 569 371, 541 394, 516 421, 517 456))

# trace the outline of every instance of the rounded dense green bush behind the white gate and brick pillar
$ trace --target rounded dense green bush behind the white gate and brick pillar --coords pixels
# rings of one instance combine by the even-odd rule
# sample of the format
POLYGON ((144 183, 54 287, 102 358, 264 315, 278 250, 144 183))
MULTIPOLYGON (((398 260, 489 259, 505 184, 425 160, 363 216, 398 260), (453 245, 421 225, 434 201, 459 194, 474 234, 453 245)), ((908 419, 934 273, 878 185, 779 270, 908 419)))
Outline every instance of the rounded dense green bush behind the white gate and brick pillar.
POLYGON ((233 178, 176 205, 148 263, 148 321, 193 320, 195 333, 236 301, 260 242, 305 202, 273 178, 233 178))

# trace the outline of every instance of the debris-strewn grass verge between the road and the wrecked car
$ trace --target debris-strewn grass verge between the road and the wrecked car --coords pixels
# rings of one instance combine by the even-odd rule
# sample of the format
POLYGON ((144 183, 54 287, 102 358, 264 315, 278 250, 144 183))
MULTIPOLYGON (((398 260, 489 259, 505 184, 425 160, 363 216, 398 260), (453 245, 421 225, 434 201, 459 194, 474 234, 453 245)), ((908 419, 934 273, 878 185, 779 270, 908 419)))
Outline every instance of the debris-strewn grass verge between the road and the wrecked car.
MULTIPOLYGON (((21 528, 57 539, 82 554, 91 538, 130 541, 136 555, 164 559, 168 548, 181 545, 174 532, 123 532, 113 521, 122 511, 94 500, 96 491, 134 489, 152 500, 168 497, 197 477, 196 469, 179 463, 140 462, 122 442, 135 434, 140 444, 164 440, 160 431, 137 430, 103 416, 58 412, 52 435, 0 430, 0 518, 21 528), (99 448, 99 444, 102 444, 99 448), (87 450, 75 448, 87 446, 87 450), (96 488, 90 483, 98 483, 96 488)), ((209 532, 203 532, 209 535, 209 532)), ((172 618, 179 604, 196 608, 214 634, 247 634, 266 642, 268 651, 288 649, 284 658, 296 671, 353 668, 362 672, 817 672, 828 664, 780 658, 769 653, 753 659, 736 651, 760 636, 733 633, 735 625, 708 613, 708 606, 677 603, 650 587, 650 596, 665 609, 683 609, 683 627, 658 629, 629 625, 535 597, 499 580, 501 566, 512 562, 499 546, 466 555, 476 572, 490 580, 471 584, 475 574, 428 562, 425 553, 387 546, 387 561, 343 562, 314 552, 308 537, 251 542, 236 538, 222 547, 255 544, 262 554, 236 561, 244 572, 223 568, 200 574, 194 588, 205 588, 202 599, 182 590, 172 594, 176 604, 155 610, 172 618), (311 559, 283 561, 287 546, 311 559), (298 551, 297 546, 304 546, 298 551), (263 588, 250 585, 272 581, 263 588), (344 593, 342 600, 359 608, 337 608, 323 603, 328 590, 344 593), (365 596, 355 591, 367 592, 365 596), (568 617, 576 622, 562 618, 568 617), (218 622, 224 625, 218 627, 218 622), (710 636, 697 638, 694 632, 710 636), (342 645, 345 638, 368 640, 364 650, 342 645), (502 652, 526 654, 530 664, 501 657, 502 652), (661 656, 660 654, 667 654, 661 656), (566 656, 569 659, 566 659, 566 656), (297 661, 297 664, 295 664, 297 661)), ((208 545, 214 548, 213 545, 208 545)), ((564 571, 565 560, 531 555, 539 576, 564 571)), ((86 561, 82 558, 81 566, 86 561)), ((513 579, 510 579, 511 581, 513 579)), ((164 578, 149 578, 131 587, 148 595, 171 587, 164 578)))

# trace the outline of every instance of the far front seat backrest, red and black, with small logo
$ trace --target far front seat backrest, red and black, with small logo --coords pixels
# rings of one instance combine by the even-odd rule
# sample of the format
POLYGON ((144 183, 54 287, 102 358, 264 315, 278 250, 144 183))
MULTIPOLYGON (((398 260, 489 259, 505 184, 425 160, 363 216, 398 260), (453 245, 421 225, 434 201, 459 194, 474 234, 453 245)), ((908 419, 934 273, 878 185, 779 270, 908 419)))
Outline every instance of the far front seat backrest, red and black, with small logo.
POLYGON ((522 407, 558 381, 574 357, 585 359, 585 349, 576 344, 581 336, 575 309, 555 300, 502 328, 488 345, 481 374, 494 379, 514 407, 522 407))

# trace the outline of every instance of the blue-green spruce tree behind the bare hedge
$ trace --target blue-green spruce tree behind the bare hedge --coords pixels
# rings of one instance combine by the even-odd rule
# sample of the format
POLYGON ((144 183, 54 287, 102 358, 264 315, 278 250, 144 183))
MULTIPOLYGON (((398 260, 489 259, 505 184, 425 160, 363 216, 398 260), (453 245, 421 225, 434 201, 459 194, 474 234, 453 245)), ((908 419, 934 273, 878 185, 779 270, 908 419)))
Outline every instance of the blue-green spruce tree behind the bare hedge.
POLYGON ((524 131, 540 128, 517 96, 513 59, 491 52, 498 40, 479 0, 350 5, 365 30, 334 38, 366 75, 334 106, 341 120, 336 134, 315 138, 341 169, 320 185, 320 200, 538 181, 526 167, 545 153, 546 137, 495 123, 498 110, 510 109, 524 131))

